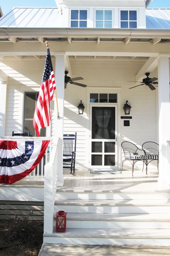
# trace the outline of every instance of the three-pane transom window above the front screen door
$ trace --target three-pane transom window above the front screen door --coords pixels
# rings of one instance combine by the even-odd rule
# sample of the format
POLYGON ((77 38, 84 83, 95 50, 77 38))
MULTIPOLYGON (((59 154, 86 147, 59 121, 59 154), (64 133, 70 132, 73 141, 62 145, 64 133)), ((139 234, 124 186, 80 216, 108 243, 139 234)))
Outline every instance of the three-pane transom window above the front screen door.
POLYGON ((90 93, 90 103, 117 103, 117 94, 90 93))

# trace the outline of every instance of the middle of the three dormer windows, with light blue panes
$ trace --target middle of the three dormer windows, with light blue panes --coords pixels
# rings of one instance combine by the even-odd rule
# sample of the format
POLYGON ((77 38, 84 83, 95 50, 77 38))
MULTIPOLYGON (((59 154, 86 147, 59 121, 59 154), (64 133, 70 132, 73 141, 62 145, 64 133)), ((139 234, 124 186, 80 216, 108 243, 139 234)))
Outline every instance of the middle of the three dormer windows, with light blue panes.
POLYGON ((96 10, 96 28, 112 28, 112 10, 96 10))

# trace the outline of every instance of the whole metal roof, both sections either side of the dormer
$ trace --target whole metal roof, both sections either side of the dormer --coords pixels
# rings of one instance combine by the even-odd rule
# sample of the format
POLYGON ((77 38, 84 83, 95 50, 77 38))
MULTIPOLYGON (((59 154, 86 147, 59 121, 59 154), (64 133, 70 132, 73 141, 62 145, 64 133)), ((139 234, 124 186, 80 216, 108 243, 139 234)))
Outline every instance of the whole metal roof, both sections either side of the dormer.
MULTIPOLYGON (((15 7, 0 18, 0 27, 58 28, 61 18, 55 7, 15 7)), ((170 29, 170 9, 146 9, 146 28, 170 29)))

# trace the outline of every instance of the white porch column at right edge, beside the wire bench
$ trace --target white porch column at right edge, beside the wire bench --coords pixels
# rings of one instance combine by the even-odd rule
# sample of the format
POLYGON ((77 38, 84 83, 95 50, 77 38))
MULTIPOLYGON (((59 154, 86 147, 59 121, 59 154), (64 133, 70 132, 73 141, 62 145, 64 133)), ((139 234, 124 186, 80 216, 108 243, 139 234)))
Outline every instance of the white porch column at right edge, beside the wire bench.
POLYGON ((167 140, 170 138, 170 90, 169 90, 169 57, 158 59, 158 101, 159 101, 159 189, 170 188, 168 172, 167 140))

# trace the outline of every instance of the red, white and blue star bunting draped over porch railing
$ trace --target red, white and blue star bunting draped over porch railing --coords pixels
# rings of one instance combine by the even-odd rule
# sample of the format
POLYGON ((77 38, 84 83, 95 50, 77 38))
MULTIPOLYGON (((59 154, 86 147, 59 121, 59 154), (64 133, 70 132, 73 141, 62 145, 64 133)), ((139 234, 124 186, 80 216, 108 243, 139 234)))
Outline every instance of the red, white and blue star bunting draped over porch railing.
POLYGON ((32 172, 41 161, 50 140, 1 139, 0 183, 12 184, 32 172))

